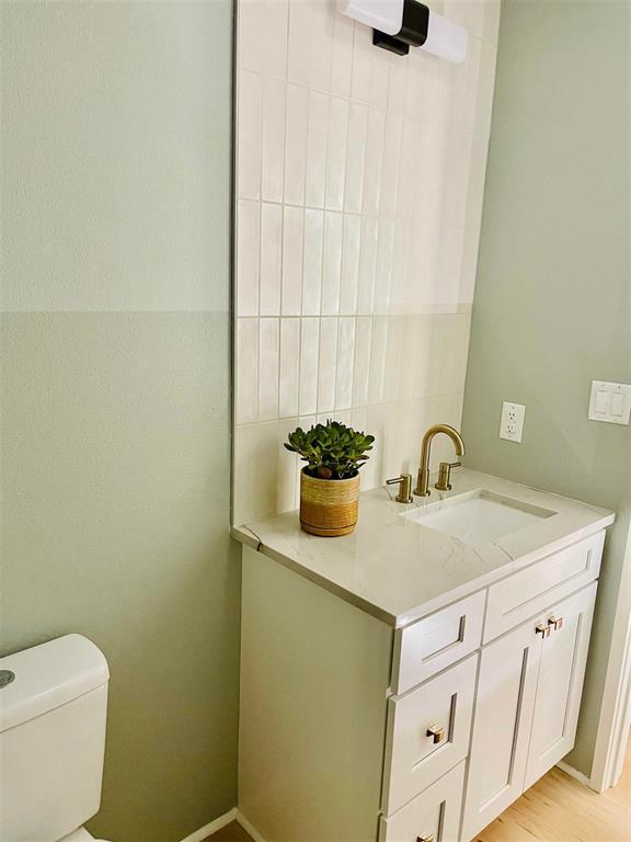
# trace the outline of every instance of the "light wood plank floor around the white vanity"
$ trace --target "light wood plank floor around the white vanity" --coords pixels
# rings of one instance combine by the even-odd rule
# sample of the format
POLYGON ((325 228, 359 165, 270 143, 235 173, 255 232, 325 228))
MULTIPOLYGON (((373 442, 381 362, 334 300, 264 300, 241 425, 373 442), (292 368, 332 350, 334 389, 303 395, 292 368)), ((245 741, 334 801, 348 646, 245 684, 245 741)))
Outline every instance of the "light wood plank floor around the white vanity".
MULTIPOLYGON (((252 840, 232 822, 211 842, 252 840)), ((631 744, 613 789, 597 795, 553 769, 479 833, 475 842, 631 842, 631 744)))

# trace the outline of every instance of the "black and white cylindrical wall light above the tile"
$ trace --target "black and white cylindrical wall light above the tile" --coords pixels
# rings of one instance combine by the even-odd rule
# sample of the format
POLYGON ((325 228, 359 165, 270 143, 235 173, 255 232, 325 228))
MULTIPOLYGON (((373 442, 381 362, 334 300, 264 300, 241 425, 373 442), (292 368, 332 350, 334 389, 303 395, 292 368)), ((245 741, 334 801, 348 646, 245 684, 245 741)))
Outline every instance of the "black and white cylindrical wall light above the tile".
POLYGON ((337 0, 337 10, 372 26, 372 44, 398 56, 420 47, 456 65, 467 57, 467 30, 417 0, 337 0))

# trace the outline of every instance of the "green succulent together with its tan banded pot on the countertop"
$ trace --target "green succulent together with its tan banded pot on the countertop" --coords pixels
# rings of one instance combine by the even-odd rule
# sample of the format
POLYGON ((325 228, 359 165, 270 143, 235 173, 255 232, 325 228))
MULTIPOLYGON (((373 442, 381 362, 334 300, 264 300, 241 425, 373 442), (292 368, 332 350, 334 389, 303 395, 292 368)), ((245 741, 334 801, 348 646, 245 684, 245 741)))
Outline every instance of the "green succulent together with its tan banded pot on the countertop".
POLYGON ((300 525, 323 537, 348 535, 357 524, 359 468, 372 448, 374 435, 339 421, 298 428, 285 444, 307 463, 300 474, 300 525))

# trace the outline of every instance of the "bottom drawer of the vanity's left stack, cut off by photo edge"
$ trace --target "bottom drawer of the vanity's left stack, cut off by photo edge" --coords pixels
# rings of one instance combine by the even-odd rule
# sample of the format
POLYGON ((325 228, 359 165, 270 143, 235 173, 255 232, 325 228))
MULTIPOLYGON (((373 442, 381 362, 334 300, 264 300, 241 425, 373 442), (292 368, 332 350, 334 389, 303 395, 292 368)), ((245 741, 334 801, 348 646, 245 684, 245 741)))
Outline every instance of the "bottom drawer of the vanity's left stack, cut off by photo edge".
POLYGON ((379 821, 379 842, 458 842, 464 763, 379 821))

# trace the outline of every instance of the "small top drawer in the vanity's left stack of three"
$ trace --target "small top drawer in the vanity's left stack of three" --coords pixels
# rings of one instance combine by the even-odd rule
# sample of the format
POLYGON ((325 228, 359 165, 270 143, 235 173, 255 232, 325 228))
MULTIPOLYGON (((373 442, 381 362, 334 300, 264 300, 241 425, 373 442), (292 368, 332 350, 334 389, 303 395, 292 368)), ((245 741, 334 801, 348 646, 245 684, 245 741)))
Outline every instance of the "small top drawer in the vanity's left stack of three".
POLYGON ((394 635, 392 692, 405 693, 480 646, 484 592, 480 591, 394 635))

